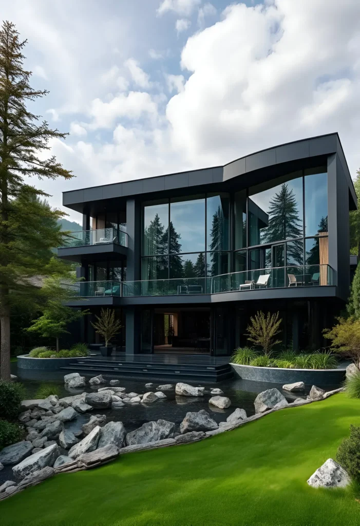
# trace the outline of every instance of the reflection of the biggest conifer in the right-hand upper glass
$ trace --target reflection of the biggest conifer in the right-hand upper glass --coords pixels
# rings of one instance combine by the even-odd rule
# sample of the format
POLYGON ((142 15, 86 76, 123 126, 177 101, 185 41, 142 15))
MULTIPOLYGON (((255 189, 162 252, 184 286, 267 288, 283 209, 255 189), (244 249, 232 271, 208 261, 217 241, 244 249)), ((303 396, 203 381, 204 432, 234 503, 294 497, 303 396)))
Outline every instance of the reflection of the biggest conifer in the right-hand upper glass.
MULTIPOLYGON (((261 242, 294 239, 303 235, 302 222, 297 209, 294 191, 284 183, 270 201, 269 226, 261 233, 261 242)), ((303 242, 294 241, 288 248, 289 258, 303 264, 303 242)))

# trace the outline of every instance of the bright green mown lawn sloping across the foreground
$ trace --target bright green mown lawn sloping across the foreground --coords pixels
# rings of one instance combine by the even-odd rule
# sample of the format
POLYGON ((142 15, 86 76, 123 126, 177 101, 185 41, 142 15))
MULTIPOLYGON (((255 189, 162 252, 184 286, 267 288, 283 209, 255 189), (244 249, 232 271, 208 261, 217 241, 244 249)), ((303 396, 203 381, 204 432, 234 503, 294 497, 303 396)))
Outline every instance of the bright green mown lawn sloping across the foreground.
POLYGON ((126 454, 1 502, 0 523, 357 525, 360 504, 350 490, 306 483, 335 457, 351 423, 360 425, 360 400, 342 393, 202 442, 126 454))

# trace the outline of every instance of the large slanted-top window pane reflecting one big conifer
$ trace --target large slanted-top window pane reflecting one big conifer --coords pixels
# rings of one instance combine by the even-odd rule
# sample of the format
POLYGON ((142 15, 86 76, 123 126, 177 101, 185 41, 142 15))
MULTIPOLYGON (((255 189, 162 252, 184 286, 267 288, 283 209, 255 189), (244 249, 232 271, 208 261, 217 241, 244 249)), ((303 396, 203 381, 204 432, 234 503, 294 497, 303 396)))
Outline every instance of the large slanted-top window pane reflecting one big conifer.
POLYGON ((297 172, 249 189, 250 244, 265 244, 303 236, 303 178, 297 172), (259 189, 261 191, 259 191, 259 189))

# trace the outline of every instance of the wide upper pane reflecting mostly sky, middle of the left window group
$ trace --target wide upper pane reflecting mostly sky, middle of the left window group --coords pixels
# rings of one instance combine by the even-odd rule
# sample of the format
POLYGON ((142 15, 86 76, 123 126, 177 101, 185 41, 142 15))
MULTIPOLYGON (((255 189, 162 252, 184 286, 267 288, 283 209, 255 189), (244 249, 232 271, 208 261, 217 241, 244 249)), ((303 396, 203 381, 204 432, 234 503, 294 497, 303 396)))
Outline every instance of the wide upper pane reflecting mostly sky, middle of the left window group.
POLYGON ((205 250, 205 198, 171 199, 170 252, 205 250))

